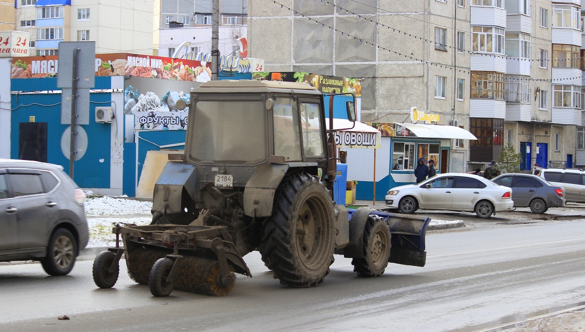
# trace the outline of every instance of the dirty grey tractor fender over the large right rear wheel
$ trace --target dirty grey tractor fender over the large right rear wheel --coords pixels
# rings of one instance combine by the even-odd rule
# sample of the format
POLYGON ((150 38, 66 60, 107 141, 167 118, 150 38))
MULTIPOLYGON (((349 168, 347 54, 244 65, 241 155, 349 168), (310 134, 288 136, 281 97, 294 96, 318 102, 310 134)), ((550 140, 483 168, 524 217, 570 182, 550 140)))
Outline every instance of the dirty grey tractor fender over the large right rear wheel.
POLYGON ((283 182, 288 164, 269 163, 256 167, 244 189, 244 213, 249 217, 272 215, 274 194, 283 182))

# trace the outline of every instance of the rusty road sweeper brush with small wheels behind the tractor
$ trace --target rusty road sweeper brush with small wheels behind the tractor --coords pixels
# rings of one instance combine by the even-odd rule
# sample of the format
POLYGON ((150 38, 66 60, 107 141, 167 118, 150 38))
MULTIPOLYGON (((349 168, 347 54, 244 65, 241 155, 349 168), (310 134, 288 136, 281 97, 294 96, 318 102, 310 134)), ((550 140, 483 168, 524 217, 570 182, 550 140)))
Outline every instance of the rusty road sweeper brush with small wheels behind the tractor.
POLYGON ((167 296, 173 289, 223 296, 235 285, 234 272, 252 276, 224 226, 126 224, 113 233, 116 248, 94 261, 94 281, 100 288, 115 285, 122 251, 130 278, 149 285, 154 296, 167 296))

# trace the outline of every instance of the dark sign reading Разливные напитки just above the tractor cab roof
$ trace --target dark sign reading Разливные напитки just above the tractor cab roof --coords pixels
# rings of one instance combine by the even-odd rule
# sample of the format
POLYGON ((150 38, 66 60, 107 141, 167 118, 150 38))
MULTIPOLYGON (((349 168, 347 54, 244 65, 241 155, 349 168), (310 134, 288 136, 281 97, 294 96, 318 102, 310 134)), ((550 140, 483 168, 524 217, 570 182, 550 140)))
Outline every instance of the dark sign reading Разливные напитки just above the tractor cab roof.
POLYGON ((302 71, 284 71, 254 73, 252 79, 307 83, 324 94, 353 93, 356 97, 362 97, 362 81, 359 78, 327 76, 303 73, 302 71))

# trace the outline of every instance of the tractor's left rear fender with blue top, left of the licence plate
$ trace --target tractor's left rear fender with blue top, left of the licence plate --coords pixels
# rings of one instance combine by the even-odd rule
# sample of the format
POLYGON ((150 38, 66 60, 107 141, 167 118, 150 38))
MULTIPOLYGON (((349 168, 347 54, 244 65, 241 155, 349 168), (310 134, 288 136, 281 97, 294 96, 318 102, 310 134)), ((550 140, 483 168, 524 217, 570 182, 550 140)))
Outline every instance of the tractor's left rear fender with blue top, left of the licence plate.
POLYGON ((188 163, 167 162, 154 184, 152 210, 161 214, 183 212, 183 188, 195 199, 195 166, 188 163))

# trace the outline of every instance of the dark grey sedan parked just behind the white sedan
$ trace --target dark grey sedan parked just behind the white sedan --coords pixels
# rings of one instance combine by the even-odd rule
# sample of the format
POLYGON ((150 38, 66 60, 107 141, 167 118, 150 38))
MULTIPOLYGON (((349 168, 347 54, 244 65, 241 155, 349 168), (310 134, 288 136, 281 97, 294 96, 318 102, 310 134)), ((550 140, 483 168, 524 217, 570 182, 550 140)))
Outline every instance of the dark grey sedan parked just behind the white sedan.
POLYGON ((545 213, 549 207, 565 206, 565 190, 532 174, 501 174, 491 179, 500 186, 512 188, 516 207, 530 207, 532 213, 545 213))

